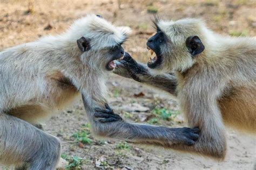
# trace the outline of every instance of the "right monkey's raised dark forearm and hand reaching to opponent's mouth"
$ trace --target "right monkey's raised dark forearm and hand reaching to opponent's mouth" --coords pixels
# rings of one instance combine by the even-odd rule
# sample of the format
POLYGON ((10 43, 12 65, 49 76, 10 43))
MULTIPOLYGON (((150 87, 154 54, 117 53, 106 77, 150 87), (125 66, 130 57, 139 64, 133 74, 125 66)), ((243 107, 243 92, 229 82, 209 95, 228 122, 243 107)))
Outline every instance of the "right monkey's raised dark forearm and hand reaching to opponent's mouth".
POLYGON ((137 82, 142 82, 160 90, 164 90, 173 96, 177 96, 177 78, 172 74, 154 75, 150 73, 146 65, 136 62, 128 53, 125 53, 124 59, 117 63, 114 74, 132 78, 137 82))

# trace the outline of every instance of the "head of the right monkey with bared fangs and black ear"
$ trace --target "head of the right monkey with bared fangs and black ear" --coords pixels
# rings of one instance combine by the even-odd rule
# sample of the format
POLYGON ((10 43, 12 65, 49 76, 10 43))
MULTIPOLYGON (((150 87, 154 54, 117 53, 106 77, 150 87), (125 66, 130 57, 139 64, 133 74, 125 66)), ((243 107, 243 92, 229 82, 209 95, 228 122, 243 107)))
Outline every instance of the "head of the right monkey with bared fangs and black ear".
POLYGON ((169 73, 192 67, 205 49, 202 41, 208 30, 204 23, 199 19, 173 22, 158 18, 153 23, 157 33, 147 40, 147 49, 155 56, 150 58, 147 66, 169 73))

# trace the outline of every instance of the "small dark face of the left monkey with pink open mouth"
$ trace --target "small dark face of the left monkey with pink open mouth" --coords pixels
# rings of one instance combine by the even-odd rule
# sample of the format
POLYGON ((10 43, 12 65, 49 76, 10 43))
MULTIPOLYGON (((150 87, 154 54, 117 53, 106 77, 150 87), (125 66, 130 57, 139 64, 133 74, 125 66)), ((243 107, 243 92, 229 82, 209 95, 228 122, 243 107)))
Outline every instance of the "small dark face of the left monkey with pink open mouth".
POLYGON ((121 45, 114 46, 109 49, 109 56, 111 60, 107 62, 106 69, 111 71, 116 67, 114 60, 122 60, 124 56, 124 48, 121 45))

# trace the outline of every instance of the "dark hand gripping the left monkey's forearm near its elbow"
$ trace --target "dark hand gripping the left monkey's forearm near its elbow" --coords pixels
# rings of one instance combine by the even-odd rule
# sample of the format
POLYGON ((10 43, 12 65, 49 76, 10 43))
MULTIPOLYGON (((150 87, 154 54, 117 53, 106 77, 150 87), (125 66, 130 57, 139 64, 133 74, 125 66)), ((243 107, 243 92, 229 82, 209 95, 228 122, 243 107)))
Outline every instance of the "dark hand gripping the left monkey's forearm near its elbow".
POLYGON ((95 108, 94 117, 101 123, 117 122, 122 121, 123 118, 117 114, 114 114, 113 109, 110 108, 109 104, 105 103, 105 108, 95 108))

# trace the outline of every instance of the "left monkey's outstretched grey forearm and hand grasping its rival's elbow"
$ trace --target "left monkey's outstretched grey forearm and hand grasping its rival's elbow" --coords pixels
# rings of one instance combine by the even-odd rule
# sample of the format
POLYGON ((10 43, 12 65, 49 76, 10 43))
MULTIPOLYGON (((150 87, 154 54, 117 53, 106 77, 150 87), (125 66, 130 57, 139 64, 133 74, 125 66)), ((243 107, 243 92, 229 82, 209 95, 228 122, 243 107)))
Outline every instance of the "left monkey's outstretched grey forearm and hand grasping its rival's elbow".
POLYGON ((160 146, 193 145, 199 137, 198 128, 166 128, 164 126, 127 123, 122 119, 109 121, 107 119, 116 118, 116 116, 111 116, 113 112, 109 112, 109 107, 100 109, 96 105, 92 106, 85 94, 82 94, 82 98, 92 126, 92 132, 97 136, 160 146), (106 117, 107 114, 110 116, 106 117))

